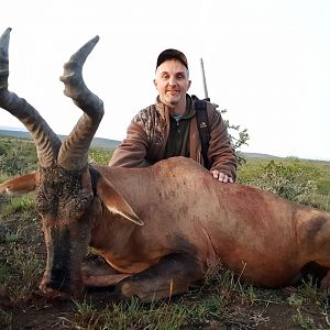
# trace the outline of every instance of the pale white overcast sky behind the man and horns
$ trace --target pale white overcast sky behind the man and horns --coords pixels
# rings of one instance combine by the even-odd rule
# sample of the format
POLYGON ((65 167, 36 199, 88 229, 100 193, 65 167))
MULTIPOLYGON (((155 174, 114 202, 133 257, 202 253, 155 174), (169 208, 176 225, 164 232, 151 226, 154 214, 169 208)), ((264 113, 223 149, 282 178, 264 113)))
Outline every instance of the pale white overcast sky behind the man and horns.
MULTIPOLYGON (((105 102, 96 136, 122 140, 152 105, 156 58, 188 57, 189 94, 208 94, 231 124, 248 129, 245 152, 330 160, 330 1, 121 0, 3 1, 0 32, 12 28, 9 89, 58 134, 81 116, 64 96, 63 65, 100 36, 84 67, 105 102)), ((22 124, 0 109, 0 127, 22 124)))

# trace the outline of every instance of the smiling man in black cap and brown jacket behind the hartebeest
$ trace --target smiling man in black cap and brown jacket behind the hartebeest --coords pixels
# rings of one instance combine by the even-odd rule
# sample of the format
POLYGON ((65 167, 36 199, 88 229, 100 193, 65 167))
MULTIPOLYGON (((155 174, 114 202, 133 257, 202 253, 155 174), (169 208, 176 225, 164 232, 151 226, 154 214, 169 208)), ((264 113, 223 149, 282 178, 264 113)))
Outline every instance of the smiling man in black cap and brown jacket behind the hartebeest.
MULTIPOLYGON (((197 101, 187 94, 190 84, 186 56, 177 50, 162 52, 154 79, 158 91, 156 102, 133 118, 127 138, 109 165, 143 167, 173 156, 190 157, 205 165, 196 119, 197 101)), ((222 183, 233 183, 237 157, 227 125, 216 108, 207 103, 210 172, 222 183)))

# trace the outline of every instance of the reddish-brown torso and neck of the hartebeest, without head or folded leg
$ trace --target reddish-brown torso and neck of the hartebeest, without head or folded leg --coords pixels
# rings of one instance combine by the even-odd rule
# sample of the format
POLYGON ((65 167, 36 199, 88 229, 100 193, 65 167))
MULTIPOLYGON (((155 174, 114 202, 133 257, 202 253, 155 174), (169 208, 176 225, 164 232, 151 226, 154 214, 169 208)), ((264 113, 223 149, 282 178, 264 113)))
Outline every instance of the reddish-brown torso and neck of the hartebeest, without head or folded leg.
POLYGON ((96 168, 103 206, 97 219, 88 211, 90 244, 120 273, 140 273, 165 255, 182 253, 204 271, 210 260, 220 258, 242 278, 277 287, 290 284, 308 262, 330 266, 327 212, 252 187, 221 184, 187 158, 143 169, 96 168), (111 205, 120 211, 121 198, 130 208, 124 213, 136 215, 143 227, 107 209, 111 205))

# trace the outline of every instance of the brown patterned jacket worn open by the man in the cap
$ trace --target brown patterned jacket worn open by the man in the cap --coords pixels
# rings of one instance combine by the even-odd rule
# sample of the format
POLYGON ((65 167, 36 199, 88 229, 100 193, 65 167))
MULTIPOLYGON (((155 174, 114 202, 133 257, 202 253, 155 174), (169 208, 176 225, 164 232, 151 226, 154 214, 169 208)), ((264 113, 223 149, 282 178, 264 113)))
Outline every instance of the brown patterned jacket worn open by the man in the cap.
MULTIPOLYGON (((191 107, 195 107, 194 100, 191 98, 190 100, 191 107)), ((227 125, 216 108, 217 106, 212 103, 207 106, 211 135, 208 157, 211 170, 218 169, 235 179, 237 156, 230 144, 227 125)), ((144 167, 164 160, 168 132, 168 109, 157 98, 155 105, 141 110, 133 118, 127 138, 114 151, 109 165, 144 167)), ((190 158, 204 164, 196 116, 190 120, 189 148, 190 158)))

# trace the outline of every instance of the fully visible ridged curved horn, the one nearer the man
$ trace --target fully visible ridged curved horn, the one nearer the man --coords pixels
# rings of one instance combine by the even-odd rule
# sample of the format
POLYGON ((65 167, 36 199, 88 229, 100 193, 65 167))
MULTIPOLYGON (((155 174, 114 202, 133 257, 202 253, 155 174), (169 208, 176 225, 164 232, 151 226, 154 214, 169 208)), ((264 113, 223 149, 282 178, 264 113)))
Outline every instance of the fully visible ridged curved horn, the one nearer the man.
POLYGON ((61 77, 65 85, 64 94, 85 112, 58 153, 58 164, 69 170, 87 165, 88 148, 105 112, 102 100, 87 88, 82 79, 84 63, 98 41, 99 36, 94 37, 74 54, 64 65, 61 77))

